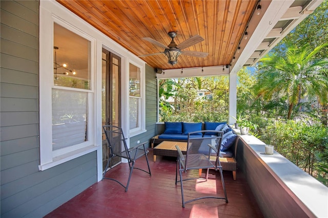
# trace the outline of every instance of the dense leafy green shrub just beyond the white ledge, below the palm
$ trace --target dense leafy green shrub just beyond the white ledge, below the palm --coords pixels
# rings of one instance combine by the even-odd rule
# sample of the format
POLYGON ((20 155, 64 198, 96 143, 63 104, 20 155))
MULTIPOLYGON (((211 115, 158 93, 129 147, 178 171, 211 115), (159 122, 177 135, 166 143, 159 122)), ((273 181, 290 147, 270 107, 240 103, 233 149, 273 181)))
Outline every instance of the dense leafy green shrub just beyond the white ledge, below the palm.
MULTIPOLYGON (((262 130, 261 140, 294 164, 314 175, 319 170, 316 154, 328 146, 328 128, 311 120, 274 120, 262 130)), ((318 156, 318 155, 317 155, 318 156)))

